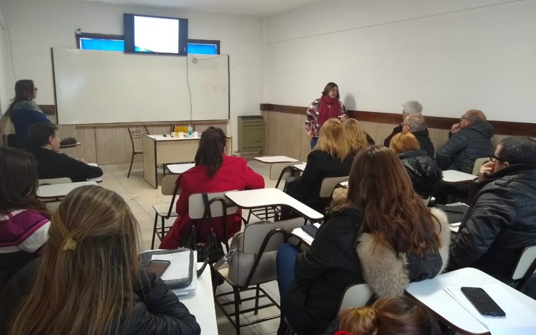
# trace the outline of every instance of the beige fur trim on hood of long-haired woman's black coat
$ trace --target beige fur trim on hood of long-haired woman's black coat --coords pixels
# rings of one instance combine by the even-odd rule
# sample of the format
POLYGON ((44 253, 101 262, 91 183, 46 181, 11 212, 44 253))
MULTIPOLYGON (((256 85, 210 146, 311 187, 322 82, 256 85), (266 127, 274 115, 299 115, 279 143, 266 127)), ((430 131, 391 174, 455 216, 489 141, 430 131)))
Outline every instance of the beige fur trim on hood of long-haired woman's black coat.
POLYGON ((362 234, 356 251, 361 260, 363 277, 370 288, 385 297, 401 295, 413 281, 434 278, 449 262, 450 229, 446 214, 439 209, 431 209, 441 226, 438 232, 441 248, 428 251, 423 257, 417 255, 396 255, 394 251, 381 244, 374 244, 374 236, 362 234))

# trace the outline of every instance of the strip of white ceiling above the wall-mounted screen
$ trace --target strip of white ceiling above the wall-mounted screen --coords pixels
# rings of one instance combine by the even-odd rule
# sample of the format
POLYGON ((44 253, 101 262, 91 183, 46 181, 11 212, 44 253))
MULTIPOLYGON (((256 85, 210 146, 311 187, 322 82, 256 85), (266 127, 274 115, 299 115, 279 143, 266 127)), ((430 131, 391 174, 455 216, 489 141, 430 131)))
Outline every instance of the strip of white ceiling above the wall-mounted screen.
POLYGON ((270 16, 319 0, 84 0, 122 5, 180 8, 229 14, 270 16))

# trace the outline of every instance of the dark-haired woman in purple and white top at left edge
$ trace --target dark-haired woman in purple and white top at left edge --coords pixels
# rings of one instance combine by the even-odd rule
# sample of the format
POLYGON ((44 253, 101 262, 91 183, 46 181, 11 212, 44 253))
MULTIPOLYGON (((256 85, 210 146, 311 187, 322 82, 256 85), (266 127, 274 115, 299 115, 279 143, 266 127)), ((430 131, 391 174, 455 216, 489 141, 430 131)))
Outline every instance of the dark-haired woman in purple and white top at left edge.
POLYGON ((0 147, 0 291, 42 254, 51 213, 37 198, 36 162, 26 151, 0 147))

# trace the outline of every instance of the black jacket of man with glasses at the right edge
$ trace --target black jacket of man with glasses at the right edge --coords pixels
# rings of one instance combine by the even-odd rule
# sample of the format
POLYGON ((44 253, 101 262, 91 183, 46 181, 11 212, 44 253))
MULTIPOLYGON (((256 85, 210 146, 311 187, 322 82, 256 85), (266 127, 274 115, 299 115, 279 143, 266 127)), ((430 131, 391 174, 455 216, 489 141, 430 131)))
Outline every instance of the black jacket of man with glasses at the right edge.
POLYGON ((487 175, 461 221, 449 269, 475 267, 501 281, 512 278, 521 251, 536 245, 536 164, 515 164, 487 175))

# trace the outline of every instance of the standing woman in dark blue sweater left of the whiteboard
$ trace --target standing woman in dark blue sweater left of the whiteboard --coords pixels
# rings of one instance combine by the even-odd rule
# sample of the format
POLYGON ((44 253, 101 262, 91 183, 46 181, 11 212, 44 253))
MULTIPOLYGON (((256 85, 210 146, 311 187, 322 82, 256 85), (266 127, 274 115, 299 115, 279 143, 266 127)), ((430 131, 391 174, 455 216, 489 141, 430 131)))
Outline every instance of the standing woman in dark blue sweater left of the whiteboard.
POLYGON ((37 87, 33 80, 21 79, 15 83, 15 98, 11 100, 6 115, 11 117, 11 122, 15 126, 15 138, 17 147, 26 147, 28 140, 28 128, 34 123, 50 123, 49 118, 35 103, 37 97, 37 87))

